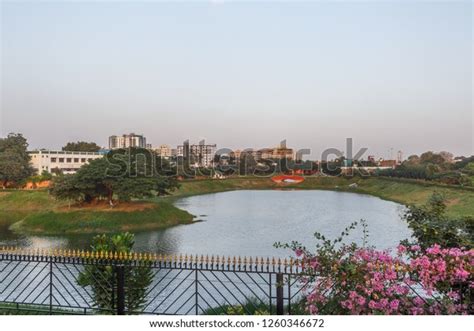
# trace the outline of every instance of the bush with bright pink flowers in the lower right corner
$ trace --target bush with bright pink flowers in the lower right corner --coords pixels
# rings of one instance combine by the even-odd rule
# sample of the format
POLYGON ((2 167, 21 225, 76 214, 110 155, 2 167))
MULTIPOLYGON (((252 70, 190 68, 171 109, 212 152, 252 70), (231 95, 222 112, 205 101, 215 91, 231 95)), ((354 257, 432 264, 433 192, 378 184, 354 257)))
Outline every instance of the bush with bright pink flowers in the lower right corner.
POLYGON ((311 314, 468 314, 474 292, 474 250, 426 250, 400 245, 396 252, 344 244, 315 236, 316 252, 297 242, 290 247, 301 267, 306 309, 311 314))

